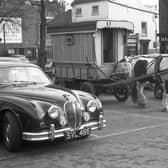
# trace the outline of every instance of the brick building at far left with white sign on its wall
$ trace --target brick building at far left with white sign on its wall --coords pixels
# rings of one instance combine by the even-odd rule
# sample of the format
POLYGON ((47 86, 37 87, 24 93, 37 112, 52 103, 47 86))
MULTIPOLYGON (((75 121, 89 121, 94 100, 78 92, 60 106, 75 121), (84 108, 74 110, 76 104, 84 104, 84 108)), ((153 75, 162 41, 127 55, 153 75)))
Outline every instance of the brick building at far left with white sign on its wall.
MULTIPOLYGON (((14 17, 21 19, 20 40, 8 41, 6 39, 4 44, 3 37, 1 37, 0 55, 4 55, 4 52, 6 54, 23 54, 30 59, 33 59, 37 55, 37 48, 39 44, 39 9, 34 6, 26 6, 22 16, 16 14, 14 17)), ((6 24, 6 29, 3 31, 1 30, 1 33, 4 35, 7 31, 12 31, 7 29, 8 27, 6 24)))

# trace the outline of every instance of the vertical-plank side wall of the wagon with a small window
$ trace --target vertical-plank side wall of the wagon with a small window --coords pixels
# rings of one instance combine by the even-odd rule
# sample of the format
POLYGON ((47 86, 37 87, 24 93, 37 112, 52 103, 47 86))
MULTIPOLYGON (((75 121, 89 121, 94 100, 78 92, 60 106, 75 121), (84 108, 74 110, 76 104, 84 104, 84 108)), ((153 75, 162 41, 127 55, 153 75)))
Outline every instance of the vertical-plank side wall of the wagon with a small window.
POLYGON ((52 35, 53 60, 64 63, 95 62, 93 33, 77 33, 71 35, 52 35), (72 45, 67 44, 67 38, 72 37, 72 45))

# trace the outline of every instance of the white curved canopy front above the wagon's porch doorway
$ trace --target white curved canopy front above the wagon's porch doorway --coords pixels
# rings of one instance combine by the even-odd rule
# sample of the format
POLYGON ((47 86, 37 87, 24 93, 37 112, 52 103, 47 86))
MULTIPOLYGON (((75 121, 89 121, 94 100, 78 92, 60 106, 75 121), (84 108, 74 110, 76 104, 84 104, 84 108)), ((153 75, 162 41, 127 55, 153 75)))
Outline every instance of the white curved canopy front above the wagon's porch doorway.
POLYGON ((116 29, 126 29, 129 31, 134 30, 134 25, 132 22, 117 21, 117 20, 100 20, 100 21, 97 21, 96 27, 97 29, 116 28, 116 29))

